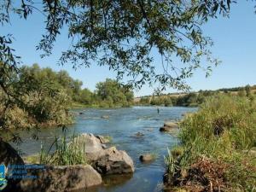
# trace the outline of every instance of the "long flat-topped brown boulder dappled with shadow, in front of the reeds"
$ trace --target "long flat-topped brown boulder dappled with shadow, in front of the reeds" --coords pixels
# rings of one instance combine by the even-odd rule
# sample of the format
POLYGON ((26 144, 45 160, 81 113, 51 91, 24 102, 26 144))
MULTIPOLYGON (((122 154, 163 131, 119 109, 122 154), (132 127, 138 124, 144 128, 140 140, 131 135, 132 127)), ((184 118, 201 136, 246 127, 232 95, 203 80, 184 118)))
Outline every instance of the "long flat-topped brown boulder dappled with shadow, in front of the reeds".
POLYGON ((21 180, 20 191, 77 191, 102 183, 101 175, 90 165, 45 166, 44 169, 33 169, 28 174, 37 178, 21 180))

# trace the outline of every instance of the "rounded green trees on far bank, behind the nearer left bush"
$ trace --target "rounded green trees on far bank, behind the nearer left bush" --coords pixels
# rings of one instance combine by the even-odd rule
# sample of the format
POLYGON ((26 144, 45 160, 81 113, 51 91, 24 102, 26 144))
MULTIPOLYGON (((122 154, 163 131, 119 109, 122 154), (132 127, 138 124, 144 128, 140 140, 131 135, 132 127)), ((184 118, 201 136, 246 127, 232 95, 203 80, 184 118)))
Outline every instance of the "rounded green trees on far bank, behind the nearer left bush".
POLYGON ((83 82, 70 77, 67 71, 55 72, 49 67, 40 68, 38 64, 21 67, 19 79, 19 84, 22 81, 27 88, 33 90, 44 84, 52 90, 65 92, 69 97, 68 108, 76 106, 75 104, 99 108, 127 107, 133 102, 131 89, 113 79, 97 83, 96 90, 92 92, 87 88, 83 89, 83 82))

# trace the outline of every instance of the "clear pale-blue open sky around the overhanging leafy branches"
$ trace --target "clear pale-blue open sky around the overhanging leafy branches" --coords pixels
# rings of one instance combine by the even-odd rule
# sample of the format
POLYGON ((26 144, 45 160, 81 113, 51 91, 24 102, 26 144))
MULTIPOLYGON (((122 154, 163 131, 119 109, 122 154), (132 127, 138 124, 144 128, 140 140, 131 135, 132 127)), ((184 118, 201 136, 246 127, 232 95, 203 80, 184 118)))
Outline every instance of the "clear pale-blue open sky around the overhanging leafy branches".
MULTIPOLYGON (((196 72, 194 77, 188 79, 192 90, 216 90, 219 88, 236 87, 246 84, 256 84, 256 15, 254 3, 239 1, 231 7, 230 18, 209 20, 203 26, 205 35, 212 38, 214 46, 212 53, 222 61, 221 65, 213 68, 212 76, 205 78, 205 73, 196 72)), ((67 33, 63 32, 57 39, 54 54, 41 59, 40 52, 36 50, 42 33, 44 32, 44 17, 35 12, 27 20, 12 18, 10 26, 0 26, 1 35, 14 34, 13 48, 16 54, 22 57, 24 64, 38 63, 41 67, 51 67, 56 71, 65 69, 74 79, 83 81, 84 87, 95 89, 99 81, 106 78, 115 78, 115 73, 108 71, 108 67, 79 68, 74 70, 67 63, 60 67, 56 63, 61 50, 69 46, 67 33)), ((157 53, 155 53, 157 54, 157 53)), ((156 56, 157 58, 157 56, 156 56)), ((156 61, 157 62, 157 61, 156 61)), ((135 92, 136 96, 150 95, 153 88, 145 85, 142 90, 135 92)), ((173 92, 176 90, 167 90, 173 92)))

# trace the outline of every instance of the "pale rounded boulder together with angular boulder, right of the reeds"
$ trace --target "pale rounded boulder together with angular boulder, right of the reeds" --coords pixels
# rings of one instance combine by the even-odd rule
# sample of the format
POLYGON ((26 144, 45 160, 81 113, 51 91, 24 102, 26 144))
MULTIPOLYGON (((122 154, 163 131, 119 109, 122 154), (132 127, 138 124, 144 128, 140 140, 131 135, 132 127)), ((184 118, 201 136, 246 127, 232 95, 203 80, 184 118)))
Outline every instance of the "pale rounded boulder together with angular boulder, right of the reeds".
POLYGON ((131 157, 117 148, 102 148, 100 139, 93 134, 82 134, 75 139, 78 144, 84 145, 86 160, 104 175, 134 172, 131 157))

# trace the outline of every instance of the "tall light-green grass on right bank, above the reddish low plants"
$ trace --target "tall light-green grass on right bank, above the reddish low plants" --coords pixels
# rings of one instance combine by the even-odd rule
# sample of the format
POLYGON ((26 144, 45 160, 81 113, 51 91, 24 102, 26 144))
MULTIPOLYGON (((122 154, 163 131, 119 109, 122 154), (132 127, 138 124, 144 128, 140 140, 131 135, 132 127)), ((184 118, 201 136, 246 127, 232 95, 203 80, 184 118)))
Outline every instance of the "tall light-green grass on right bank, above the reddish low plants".
POLYGON ((232 147, 236 149, 256 147, 255 114, 256 103, 245 97, 221 95, 208 98, 198 113, 189 116, 181 124, 186 128, 190 126, 189 129, 183 129, 181 140, 186 144, 195 141, 195 137, 214 140, 222 134, 228 134, 232 147), (196 133, 196 136, 191 133, 196 133))

